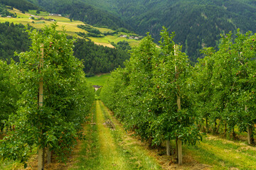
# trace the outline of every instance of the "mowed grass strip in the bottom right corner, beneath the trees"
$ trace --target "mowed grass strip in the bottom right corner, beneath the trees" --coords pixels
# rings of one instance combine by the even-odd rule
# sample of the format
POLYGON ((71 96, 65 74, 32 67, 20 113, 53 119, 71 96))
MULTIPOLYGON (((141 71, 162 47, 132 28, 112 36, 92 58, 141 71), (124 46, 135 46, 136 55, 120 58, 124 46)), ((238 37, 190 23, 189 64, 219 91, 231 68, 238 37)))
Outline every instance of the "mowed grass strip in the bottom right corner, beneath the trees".
POLYGON ((212 169, 256 169, 256 148, 209 135, 201 144, 188 146, 194 159, 212 169))

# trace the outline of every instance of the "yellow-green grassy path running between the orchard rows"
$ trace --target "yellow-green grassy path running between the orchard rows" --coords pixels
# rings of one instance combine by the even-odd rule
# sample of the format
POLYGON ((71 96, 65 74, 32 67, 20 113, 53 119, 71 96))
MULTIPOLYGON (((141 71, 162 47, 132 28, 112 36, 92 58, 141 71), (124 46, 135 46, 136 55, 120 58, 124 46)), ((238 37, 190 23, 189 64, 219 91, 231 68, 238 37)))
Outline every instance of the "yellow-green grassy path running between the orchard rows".
POLYGON ((137 140, 127 135, 101 101, 95 102, 92 121, 85 127, 77 163, 70 169, 161 169, 137 140))

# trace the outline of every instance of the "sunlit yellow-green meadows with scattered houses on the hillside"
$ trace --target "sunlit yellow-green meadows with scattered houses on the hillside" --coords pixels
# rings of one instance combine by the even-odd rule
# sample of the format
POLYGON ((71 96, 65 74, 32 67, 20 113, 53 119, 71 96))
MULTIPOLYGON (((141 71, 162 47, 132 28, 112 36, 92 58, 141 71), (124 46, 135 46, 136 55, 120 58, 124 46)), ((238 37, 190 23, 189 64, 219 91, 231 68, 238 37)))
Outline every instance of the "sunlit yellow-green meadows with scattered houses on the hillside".
MULTIPOLYGON (((11 13, 16 13, 17 17, 16 18, 4 18, 0 17, 0 22, 9 22, 9 23, 22 23, 23 25, 31 25, 34 28, 40 29, 43 28, 45 25, 50 25, 51 23, 57 22, 58 28, 57 30, 63 30, 63 27, 68 33, 68 35, 73 35, 78 38, 82 38, 79 35, 77 35, 78 32, 80 33, 87 33, 86 30, 82 30, 81 28, 78 28, 78 25, 85 25, 85 23, 82 23, 81 21, 70 21, 69 18, 65 18, 63 16, 49 16, 49 13, 44 13, 41 12, 42 14, 37 14, 36 10, 30 10, 26 13, 21 13, 18 9, 14 8, 14 10, 9 10, 11 13), (36 16, 37 14, 37 16, 36 16), (35 18, 32 19, 31 17, 35 18), (43 18, 42 20, 40 18, 43 18), (47 19, 52 19, 54 21, 46 21, 47 19)), ((98 27, 92 27, 100 30, 101 33, 112 33, 114 30, 111 30, 109 28, 98 28, 98 27)), ((111 45, 111 42, 114 42, 117 44, 119 41, 127 41, 129 42, 129 45, 131 46, 136 46, 139 43, 139 40, 131 40, 129 38, 122 38, 120 35, 127 35, 132 36, 134 34, 131 33, 122 33, 118 32, 115 33, 114 35, 105 35, 104 38, 94 38, 94 37, 88 37, 90 40, 95 42, 97 45, 104 45, 106 47, 114 47, 111 45)))

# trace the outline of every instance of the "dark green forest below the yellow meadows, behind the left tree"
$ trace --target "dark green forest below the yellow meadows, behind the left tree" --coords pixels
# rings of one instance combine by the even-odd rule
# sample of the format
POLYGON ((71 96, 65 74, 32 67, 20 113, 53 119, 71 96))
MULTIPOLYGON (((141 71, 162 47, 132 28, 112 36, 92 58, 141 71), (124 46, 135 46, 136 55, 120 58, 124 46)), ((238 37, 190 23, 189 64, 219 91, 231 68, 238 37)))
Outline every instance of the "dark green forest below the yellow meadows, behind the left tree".
MULTIPOLYGON (((26 28, 22 24, 0 23, 0 59, 18 62, 14 52, 26 52, 31 45, 26 28)), ((94 42, 78 39, 73 47, 75 57, 83 60, 84 71, 88 76, 98 73, 107 73, 129 59, 127 50, 131 49, 127 42, 119 42, 115 48, 95 45, 94 42)))

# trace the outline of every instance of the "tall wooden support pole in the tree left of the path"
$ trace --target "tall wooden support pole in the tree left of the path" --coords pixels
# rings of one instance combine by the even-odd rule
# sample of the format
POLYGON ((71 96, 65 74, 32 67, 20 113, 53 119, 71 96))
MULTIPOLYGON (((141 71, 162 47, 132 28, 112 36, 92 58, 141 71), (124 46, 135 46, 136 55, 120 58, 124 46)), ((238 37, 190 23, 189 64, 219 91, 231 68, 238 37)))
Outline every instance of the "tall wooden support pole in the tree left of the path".
MULTIPOLYGON (((41 68, 43 68, 43 44, 41 44, 41 55, 39 55, 39 74, 41 74, 41 68)), ((38 97, 38 108, 43 106, 43 77, 39 81, 39 97, 38 97)), ((41 139, 38 139, 40 141, 41 139)), ((44 169, 44 148, 39 146, 38 148, 38 170, 44 169)))

